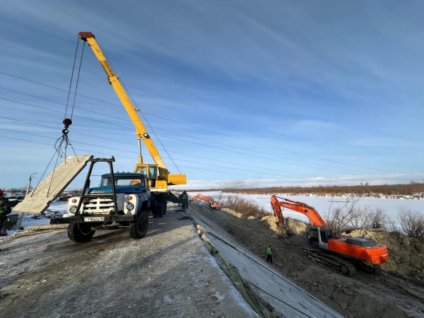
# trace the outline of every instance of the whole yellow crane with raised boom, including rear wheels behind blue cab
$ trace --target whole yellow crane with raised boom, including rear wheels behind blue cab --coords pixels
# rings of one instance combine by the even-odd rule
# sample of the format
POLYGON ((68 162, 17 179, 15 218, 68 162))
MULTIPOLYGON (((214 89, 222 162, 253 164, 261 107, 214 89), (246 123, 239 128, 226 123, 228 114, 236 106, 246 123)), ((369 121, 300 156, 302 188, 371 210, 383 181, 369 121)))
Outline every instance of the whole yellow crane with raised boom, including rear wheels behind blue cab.
POLYGON ((80 32, 78 37, 84 42, 88 42, 88 45, 93 49, 95 57, 102 65, 103 69, 107 74, 107 80, 114 88, 115 92, 118 95, 119 100, 121 100, 122 105, 126 112, 129 114, 131 121, 136 127, 136 136, 139 143, 139 163, 136 164, 134 172, 142 173, 143 175, 148 175, 149 184, 151 187, 151 197, 152 197, 152 213, 153 217, 162 217, 166 213, 166 203, 167 201, 172 201, 179 203, 177 196, 172 194, 169 191, 169 186, 177 184, 187 184, 185 175, 172 175, 167 170, 163 159, 160 157, 160 153, 156 148, 151 136, 148 134, 146 127, 137 114, 138 108, 132 105, 131 100, 122 86, 122 83, 119 81, 119 77, 114 73, 112 67, 107 61, 105 54, 103 54, 98 42, 95 40, 95 35, 90 32, 80 32), (143 140, 146 148, 148 149, 151 157, 155 161, 152 163, 143 163, 143 156, 141 155, 141 140, 143 140))

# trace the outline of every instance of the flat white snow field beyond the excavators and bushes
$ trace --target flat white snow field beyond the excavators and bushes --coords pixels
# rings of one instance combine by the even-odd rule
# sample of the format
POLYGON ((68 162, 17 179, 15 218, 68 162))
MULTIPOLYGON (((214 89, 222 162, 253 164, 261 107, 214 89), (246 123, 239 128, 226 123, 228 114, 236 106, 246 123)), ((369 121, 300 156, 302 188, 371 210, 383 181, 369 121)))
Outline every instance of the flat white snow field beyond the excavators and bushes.
MULTIPOLYGON (((225 202, 225 199, 229 196, 240 196, 244 199, 255 201, 259 206, 264 208, 269 213, 272 213, 271 209, 271 196, 266 194, 237 194, 237 193, 224 193, 220 191, 212 192, 187 192, 189 196, 195 196, 196 194, 203 194, 204 196, 212 196, 217 201, 225 202)), ((283 198, 288 198, 293 201, 300 201, 317 209, 323 216, 328 213, 329 208, 336 208, 337 206, 343 206, 346 204, 346 199, 343 197, 326 197, 326 196, 287 196, 278 195, 283 198)), ((424 214, 424 200, 406 200, 406 199, 383 199, 383 198, 358 198, 356 206, 358 208, 366 208, 367 210, 382 208, 386 211, 390 218, 396 219, 399 212, 399 208, 406 208, 406 210, 419 211, 424 214)), ((295 218, 307 222, 306 216, 302 216, 300 213, 284 210, 284 215, 289 218, 295 218)))

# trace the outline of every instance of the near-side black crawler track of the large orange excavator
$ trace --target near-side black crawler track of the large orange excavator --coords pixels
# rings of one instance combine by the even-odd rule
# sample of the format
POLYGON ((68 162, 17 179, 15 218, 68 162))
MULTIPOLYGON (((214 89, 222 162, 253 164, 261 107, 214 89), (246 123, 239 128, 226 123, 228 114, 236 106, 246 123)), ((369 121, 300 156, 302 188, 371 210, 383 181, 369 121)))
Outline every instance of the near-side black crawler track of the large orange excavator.
POLYGON ((336 271, 337 273, 341 273, 343 276, 353 276, 356 273, 355 266, 353 266, 348 261, 341 259, 340 257, 324 254, 317 250, 306 248, 302 249, 302 255, 303 257, 310 259, 319 265, 327 267, 333 271, 336 271))

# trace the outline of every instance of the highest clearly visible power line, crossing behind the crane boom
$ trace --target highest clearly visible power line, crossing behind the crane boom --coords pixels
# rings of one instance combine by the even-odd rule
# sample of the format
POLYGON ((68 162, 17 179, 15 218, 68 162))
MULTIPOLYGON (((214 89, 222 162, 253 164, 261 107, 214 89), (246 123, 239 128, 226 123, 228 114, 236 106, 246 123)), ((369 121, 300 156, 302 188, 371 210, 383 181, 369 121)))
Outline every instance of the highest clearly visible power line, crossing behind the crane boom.
MULTIPOLYGON (((0 44, 1 44, 1 43, 0 43, 0 44)), ((39 83, 39 82, 35 82, 35 81, 31 81, 31 80, 28 80, 28 79, 26 79, 26 78, 22 78, 22 77, 19 77, 19 76, 14 76, 14 75, 11 75, 11 74, 8 74, 8 73, 4 73, 4 72, 1 72, 1 71, 0 71, 0 73, 2 73, 2 74, 4 74, 4 75, 7 75, 7 76, 13 76, 13 77, 16 77, 16 78, 20 78, 20 79, 22 79, 22 80, 24 80, 24 81, 30 81, 30 82, 32 82, 32 83, 37 83, 37 84, 42 85, 42 86, 47 86, 47 87, 49 87, 49 88, 54 88, 53 86, 49 86, 49 85, 46 85, 46 84, 43 84, 43 83, 39 83)), ((129 87, 132 87, 132 86, 129 86, 129 87)), ((61 88, 55 88, 55 89, 57 89, 57 90, 62 90, 61 88)), ((63 90, 63 91, 66 91, 66 90, 63 90)), ((127 90, 127 91, 128 91, 128 90, 127 90)), ((77 95, 81 95, 81 94, 77 94, 77 95)), ((84 97, 84 98, 90 98, 90 97, 88 97, 88 96, 86 96, 86 95, 81 95, 81 96, 82 96, 82 97, 84 97)), ((132 97, 131 97, 131 98, 132 98, 132 97)), ((107 104, 109 104, 109 105, 115 105, 115 106, 118 106, 118 107, 122 107, 122 105, 113 104, 113 103, 111 103, 111 102, 106 102, 106 101, 104 101, 104 100, 98 100, 98 99, 96 99, 96 98, 90 98, 90 99, 92 99, 92 100, 97 100, 97 101, 99 101, 99 102, 105 102, 105 103, 107 103, 107 104)), ((133 100, 134 100, 134 99, 133 99, 133 100)), ((143 113, 142 113, 142 114, 143 114, 143 113)), ((146 114, 147 114, 147 113, 146 113, 146 114)), ((156 115, 154 115, 154 114, 150 114, 150 115, 152 115, 152 116, 156 116, 156 115)), ((158 117, 158 116, 156 116, 156 117, 158 117)), ((163 118, 163 119, 165 119, 165 117, 162 117, 162 118, 163 118)), ((146 117, 145 117, 145 119, 146 119, 146 117)), ((172 119, 166 119, 166 120, 170 120, 170 121, 172 121, 172 122, 177 122, 177 121, 172 120, 172 119)), ((387 171, 387 170, 375 169, 375 168, 370 168, 370 167, 363 167, 363 166, 360 166, 360 165, 352 165, 352 164, 350 164, 350 163, 342 163, 341 161, 336 161, 336 160, 331 160, 331 159, 321 158, 321 157, 317 157, 317 156, 314 156, 314 155, 309 155, 309 154, 305 154, 305 153, 299 153, 299 152, 297 152, 297 151, 290 151, 290 150, 288 150, 288 149, 278 148, 278 147, 276 147, 276 146, 267 145, 267 144, 265 144, 265 143, 259 143, 259 142, 257 142, 257 141, 249 141, 248 139, 242 139, 242 138, 240 138, 240 137, 231 136, 231 135, 229 135, 229 134, 223 134, 223 133, 220 133, 219 131, 213 131, 213 130, 210 130, 210 129, 204 129, 204 128, 202 128, 202 127, 195 126, 195 125, 185 124, 185 123, 182 123, 182 122, 178 122, 178 123, 179 123, 179 124, 184 124, 184 125, 187 125, 187 126, 192 126, 192 127, 196 128, 196 129, 202 129, 202 130, 205 130, 205 131, 210 131, 210 132, 213 132, 214 134, 220 134, 220 135, 223 135, 223 136, 228 136, 228 137, 233 138, 233 139, 238 139, 238 140, 242 140, 242 141, 247 141, 247 142, 249 142, 249 143, 255 143, 255 144, 260 145, 260 146, 264 146, 264 147, 268 147, 268 148, 273 148, 273 149, 278 149, 278 150, 281 150, 281 151, 285 151, 285 152, 288 152, 288 153, 294 153, 294 154, 297 154, 297 155, 303 155, 303 156, 306 156, 306 157, 309 157, 309 158, 314 158, 314 159, 319 159, 319 160, 325 160, 325 161, 329 161, 329 162, 331 162, 331 163, 338 163, 338 164, 341 164, 341 165, 349 165, 349 166, 352 166, 352 167, 360 167, 360 168, 367 169, 367 170, 375 170, 375 171, 381 171, 381 172, 396 173, 396 172, 390 172, 390 171, 387 171)), ((247 124, 247 123, 245 123, 245 124, 247 124)), ((153 131, 153 130, 152 130, 152 131, 153 131)), ((292 159, 289 159, 289 160, 292 160, 292 159)), ((319 165, 319 164, 316 164, 316 163, 310 163, 310 164, 319 165)), ((324 166, 324 165, 322 165, 322 166, 324 166)), ((361 172, 361 173, 364 173, 364 172, 361 172)))

